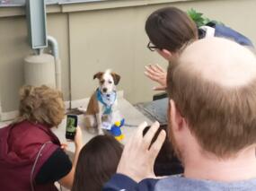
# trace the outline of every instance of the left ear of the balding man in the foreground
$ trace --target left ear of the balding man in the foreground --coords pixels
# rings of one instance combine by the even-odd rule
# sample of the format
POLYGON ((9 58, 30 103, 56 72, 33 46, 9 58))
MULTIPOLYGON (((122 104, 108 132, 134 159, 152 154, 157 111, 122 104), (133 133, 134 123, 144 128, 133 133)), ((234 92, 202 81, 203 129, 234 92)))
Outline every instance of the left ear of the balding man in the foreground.
POLYGON ((170 104, 170 113, 169 117, 171 118, 171 123, 172 123, 172 130, 173 131, 179 131, 181 128, 185 125, 185 119, 184 117, 181 116, 181 112, 179 109, 177 109, 176 104, 174 100, 169 101, 170 104))

